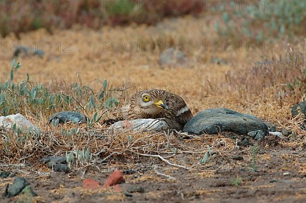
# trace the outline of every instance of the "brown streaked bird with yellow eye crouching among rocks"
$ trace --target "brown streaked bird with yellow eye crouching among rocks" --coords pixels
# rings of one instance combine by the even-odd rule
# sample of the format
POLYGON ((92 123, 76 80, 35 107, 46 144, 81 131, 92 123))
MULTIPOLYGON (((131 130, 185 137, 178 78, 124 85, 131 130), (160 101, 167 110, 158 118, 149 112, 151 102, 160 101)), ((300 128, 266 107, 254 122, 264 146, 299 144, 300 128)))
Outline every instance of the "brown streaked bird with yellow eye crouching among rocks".
POLYGON ((121 108, 121 112, 124 120, 164 118, 169 127, 175 130, 182 130, 192 118, 189 107, 179 95, 157 89, 136 93, 129 105, 121 108), (148 102, 144 101, 146 96, 148 102))

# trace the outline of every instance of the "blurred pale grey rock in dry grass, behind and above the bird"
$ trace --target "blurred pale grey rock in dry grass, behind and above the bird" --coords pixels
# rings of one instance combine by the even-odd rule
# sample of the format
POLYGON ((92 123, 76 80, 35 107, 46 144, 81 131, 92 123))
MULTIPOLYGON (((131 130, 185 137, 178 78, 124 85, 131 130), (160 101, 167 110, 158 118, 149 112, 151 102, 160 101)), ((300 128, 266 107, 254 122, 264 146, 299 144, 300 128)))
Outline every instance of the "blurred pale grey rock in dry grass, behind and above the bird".
POLYGON ((169 48, 161 53, 159 64, 161 66, 185 67, 188 64, 188 59, 183 51, 169 48))

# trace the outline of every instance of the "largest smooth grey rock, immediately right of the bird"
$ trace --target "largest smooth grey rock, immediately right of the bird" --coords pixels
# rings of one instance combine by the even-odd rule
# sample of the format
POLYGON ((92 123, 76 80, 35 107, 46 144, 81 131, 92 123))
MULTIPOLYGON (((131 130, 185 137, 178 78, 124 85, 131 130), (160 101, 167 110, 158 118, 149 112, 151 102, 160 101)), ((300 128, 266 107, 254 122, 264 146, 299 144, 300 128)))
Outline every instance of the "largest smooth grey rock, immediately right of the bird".
POLYGON ((268 127, 261 119, 250 114, 242 114, 226 108, 207 109, 197 113, 184 127, 183 131, 193 134, 218 134, 228 131, 239 135, 262 130, 268 127))

